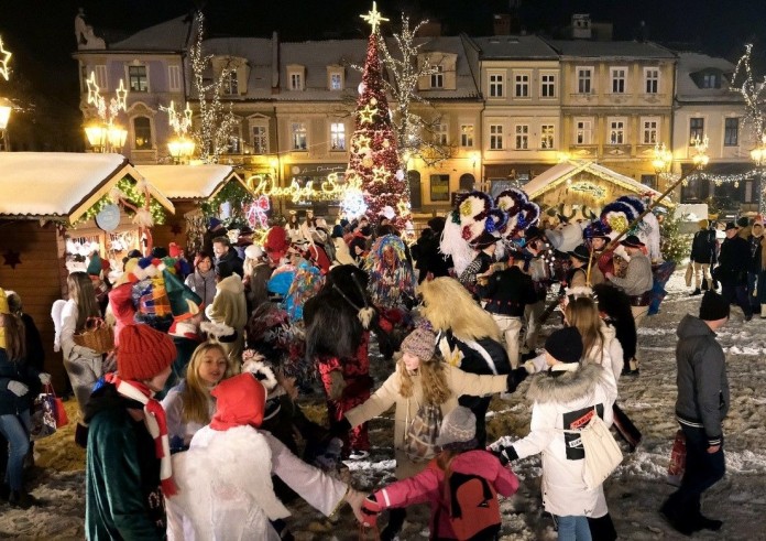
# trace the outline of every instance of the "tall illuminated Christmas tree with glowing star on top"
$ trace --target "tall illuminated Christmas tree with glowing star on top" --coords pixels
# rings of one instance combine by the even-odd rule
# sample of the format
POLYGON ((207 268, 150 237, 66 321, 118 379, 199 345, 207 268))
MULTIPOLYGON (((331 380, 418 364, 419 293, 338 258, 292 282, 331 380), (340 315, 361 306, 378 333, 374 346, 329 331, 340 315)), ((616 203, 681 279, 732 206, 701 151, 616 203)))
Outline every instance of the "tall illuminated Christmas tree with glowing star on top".
POLYGON ((382 209, 391 207, 396 215, 392 221, 404 229, 411 217, 409 190, 400 169, 396 136, 377 55, 380 22, 387 19, 377 12, 375 2, 372 3, 372 11, 361 17, 370 23, 372 32, 359 87, 347 180, 361 181, 369 215, 376 217, 382 209))

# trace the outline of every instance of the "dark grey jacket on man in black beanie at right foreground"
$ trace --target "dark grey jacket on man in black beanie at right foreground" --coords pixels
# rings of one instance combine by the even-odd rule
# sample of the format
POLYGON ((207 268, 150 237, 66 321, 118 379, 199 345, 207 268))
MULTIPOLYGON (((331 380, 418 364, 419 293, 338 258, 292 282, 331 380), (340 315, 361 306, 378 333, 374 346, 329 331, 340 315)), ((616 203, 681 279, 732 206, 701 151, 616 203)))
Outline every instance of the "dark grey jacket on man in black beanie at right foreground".
POLYGON ((704 429, 709 445, 719 445, 730 403, 723 349, 715 333, 693 315, 683 316, 676 334, 676 416, 681 424, 704 429))

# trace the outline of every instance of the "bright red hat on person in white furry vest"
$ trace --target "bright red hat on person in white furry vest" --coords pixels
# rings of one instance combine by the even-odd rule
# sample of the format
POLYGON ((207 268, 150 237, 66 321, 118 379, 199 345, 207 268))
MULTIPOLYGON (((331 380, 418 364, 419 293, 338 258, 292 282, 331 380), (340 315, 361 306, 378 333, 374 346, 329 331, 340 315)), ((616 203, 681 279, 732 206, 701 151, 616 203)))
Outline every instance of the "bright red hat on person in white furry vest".
POLYGON ((216 397, 216 414, 210 421, 212 430, 261 426, 266 405, 266 389, 252 374, 245 372, 225 379, 210 391, 210 394, 216 397))

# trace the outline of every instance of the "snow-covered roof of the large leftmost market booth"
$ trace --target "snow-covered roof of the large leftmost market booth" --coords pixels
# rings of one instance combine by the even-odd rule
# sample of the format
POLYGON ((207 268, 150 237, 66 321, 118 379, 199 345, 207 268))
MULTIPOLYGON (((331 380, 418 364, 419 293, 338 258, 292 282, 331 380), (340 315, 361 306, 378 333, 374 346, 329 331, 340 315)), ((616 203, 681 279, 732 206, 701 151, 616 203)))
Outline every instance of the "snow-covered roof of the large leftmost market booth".
MULTIPOLYGON (((121 154, 0 152, 0 217, 75 223, 125 176, 145 180, 121 154)), ((152 197, 175 213, 173 203, 146 184, 152 197)))

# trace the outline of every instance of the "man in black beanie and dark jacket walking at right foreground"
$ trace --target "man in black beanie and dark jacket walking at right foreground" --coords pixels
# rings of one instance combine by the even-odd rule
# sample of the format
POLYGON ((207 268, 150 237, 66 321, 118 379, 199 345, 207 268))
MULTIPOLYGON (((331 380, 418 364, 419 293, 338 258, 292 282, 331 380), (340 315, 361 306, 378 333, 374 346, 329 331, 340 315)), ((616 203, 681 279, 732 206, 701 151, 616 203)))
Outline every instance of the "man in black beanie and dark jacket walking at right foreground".
POLYGON ((715 332, 729 321, 729 310, 726 299, 708 291, 700 316, 687 314, 676 331, 676 419, 686 436, 687 461, 681 487, 665 501, 660 512, 685 535, 703 529, 716 531, 723 526, 701 513, 700 499, 725 473, 722 422, 730 404, 729 380, 726 358, 715 332))

